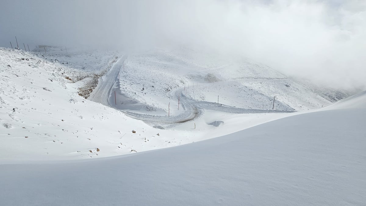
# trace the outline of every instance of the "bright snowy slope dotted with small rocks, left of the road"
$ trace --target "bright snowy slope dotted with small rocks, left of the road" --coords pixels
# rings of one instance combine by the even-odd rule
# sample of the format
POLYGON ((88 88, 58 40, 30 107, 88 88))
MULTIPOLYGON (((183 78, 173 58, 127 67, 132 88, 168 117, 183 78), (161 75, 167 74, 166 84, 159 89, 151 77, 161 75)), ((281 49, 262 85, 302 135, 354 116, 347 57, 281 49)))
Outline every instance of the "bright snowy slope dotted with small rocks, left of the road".
POLYGON ((42 55, 0 48, 0 159, 109 157, 196 141, 190 131, 152 128, 78 95, 85 79, 76 80, 108 69, 116 54, 99 54, 104 64, 87 71, 60 62, 76 65, 89 53, 42 55))

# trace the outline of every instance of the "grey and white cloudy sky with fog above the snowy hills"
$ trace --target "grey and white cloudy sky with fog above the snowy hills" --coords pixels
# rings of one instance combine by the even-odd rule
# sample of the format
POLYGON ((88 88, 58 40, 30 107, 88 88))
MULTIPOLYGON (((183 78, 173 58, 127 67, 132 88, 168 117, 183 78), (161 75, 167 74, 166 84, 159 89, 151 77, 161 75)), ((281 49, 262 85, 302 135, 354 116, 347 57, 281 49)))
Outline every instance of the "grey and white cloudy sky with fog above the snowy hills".
POLYGON ((1 0, 0 46, 14 36, 30 46, 195 45, 366 89, 365 0, 1 0))

